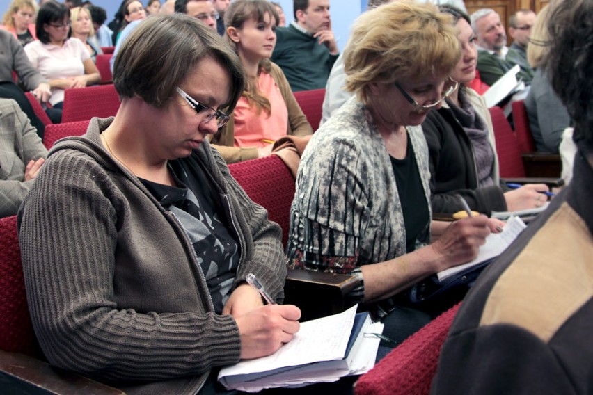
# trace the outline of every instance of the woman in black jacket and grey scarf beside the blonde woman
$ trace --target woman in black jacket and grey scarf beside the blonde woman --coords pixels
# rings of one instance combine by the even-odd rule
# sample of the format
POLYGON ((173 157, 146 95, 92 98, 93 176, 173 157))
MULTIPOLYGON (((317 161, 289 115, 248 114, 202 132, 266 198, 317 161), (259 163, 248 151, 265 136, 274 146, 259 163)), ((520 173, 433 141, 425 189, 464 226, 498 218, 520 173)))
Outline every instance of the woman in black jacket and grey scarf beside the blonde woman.
POLYGON ((545 184, 528 184, 509 191, 501 186, 494 130, 484 99, 466 83, 475 78, 477 60, 476 37, 466 13, 454 6, 443 5, 442 13, 453 17, 459 31, 461 59, 451 73, 459 88, 445 99, 422 124, 429 148, 432 211, 459 211, 462 195, 471 209, 490 215, 491 211, 532 209, 545 202, 545 184))

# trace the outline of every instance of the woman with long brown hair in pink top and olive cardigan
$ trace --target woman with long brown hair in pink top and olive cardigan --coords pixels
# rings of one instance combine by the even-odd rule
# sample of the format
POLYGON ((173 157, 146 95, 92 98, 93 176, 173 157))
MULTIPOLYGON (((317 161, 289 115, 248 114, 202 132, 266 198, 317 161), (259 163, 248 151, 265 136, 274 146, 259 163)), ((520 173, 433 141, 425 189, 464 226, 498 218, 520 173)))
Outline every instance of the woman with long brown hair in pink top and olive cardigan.
POLYGON ((266 0, 234 1, 226 10, 226 38, 247 77, 230 121, 212 137, 228 163, 268 155, 283 136, 313 134, 282 70, 268 59, 278 20, 276 8, 266 0))

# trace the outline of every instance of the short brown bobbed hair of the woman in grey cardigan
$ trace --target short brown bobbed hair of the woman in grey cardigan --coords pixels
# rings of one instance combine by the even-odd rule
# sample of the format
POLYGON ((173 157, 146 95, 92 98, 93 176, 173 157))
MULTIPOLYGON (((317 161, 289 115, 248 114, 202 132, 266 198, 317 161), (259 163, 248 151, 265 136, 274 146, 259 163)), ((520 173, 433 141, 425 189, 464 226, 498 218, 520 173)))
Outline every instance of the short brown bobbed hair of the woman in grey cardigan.
POLYGON ((230 78, 226 111, 241 96, 244 73, 241 61, 216 31, 182 14, 151 15, 129 35, 113 65, 113 83, 120 97, 138 95, 156 108, 164 108, 175 88, 193 65, 213 58, 230 78))

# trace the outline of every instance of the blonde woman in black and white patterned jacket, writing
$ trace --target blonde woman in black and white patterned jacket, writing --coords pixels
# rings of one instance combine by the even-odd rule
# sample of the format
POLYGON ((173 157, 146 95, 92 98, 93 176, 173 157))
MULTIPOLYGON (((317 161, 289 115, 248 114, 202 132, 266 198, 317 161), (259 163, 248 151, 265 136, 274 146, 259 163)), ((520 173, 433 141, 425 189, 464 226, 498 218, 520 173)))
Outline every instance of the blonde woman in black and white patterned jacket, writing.
POLYGON ((493 226, 486 216, 431 221, 418 125, 452 92, 459 54, 449 19, 430 4, 396 1, 358 17, 344 53, 356 97, 313 135, 299 164, 290 266, 356 275, 351 298, 397 340, 432 317, 401 307, 402 291, 473 259, 493 226))

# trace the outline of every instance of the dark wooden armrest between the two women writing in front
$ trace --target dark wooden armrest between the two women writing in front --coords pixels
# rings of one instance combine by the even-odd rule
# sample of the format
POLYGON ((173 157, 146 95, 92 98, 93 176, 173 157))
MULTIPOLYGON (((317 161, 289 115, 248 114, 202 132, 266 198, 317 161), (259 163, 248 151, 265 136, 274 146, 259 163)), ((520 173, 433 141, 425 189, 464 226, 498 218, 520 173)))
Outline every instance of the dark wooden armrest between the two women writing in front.
POLYGON ((347 293, 358 286, 353 275, 288 269, 284 303, 301 309, 301 321, 343 312, 347 293))

